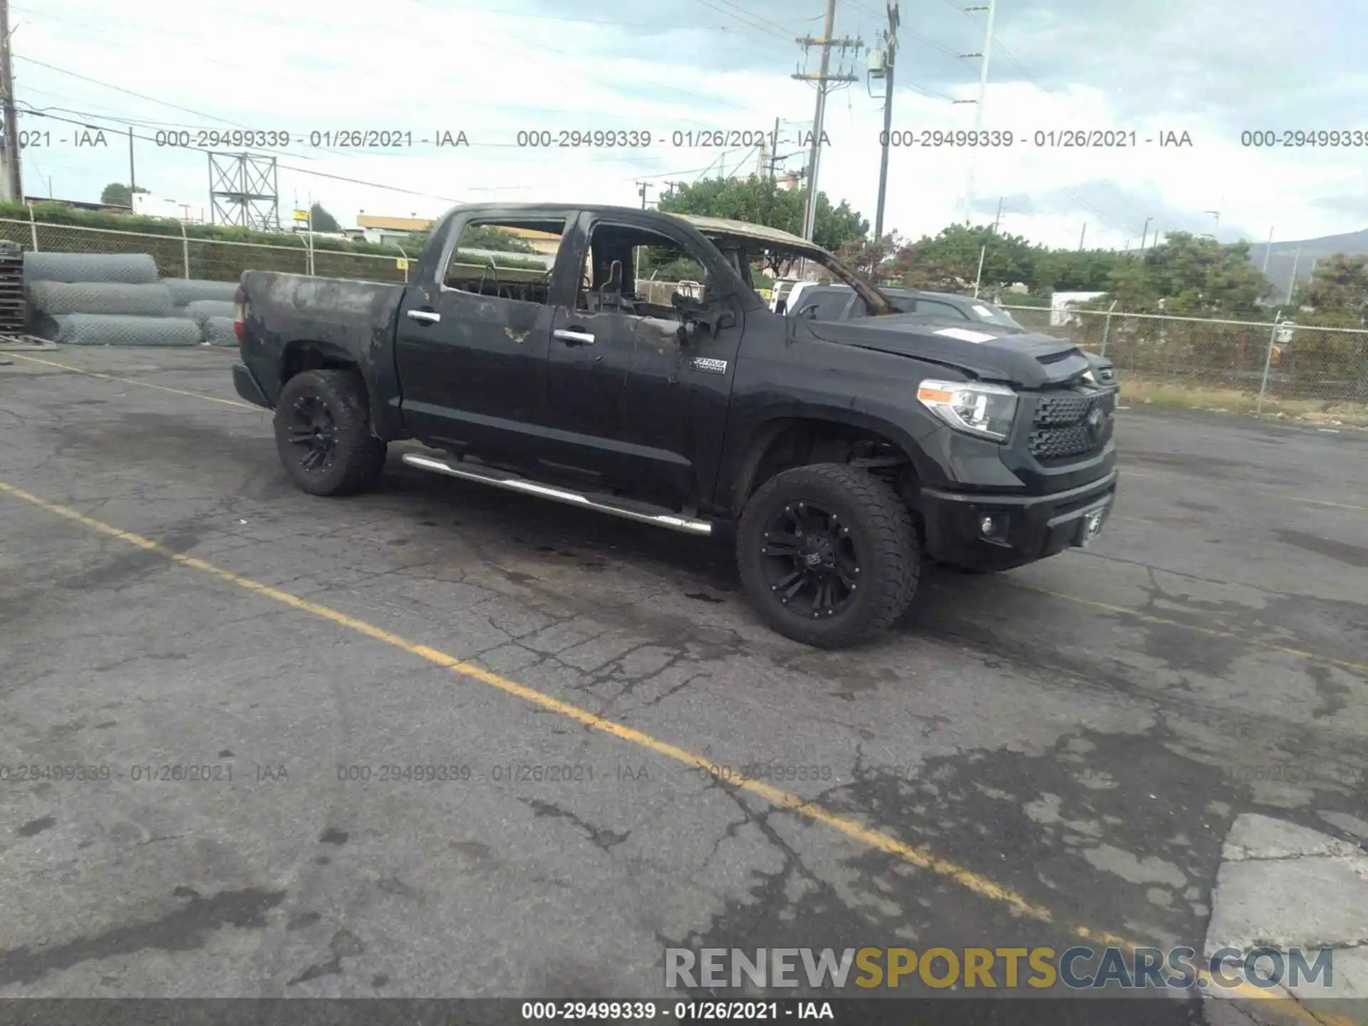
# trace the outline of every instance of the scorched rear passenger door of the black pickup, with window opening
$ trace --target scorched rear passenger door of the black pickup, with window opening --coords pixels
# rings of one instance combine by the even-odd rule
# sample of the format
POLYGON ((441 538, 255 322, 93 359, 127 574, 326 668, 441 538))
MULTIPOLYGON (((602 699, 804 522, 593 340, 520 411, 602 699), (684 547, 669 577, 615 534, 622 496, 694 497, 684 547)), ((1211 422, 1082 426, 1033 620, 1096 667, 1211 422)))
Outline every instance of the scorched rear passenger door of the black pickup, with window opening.
MULTIPOLYGON (((566 216, 457 215, 399 308, 405 427, 456 451, 534 461, 566 216)), ((573 294, 566 272, 565 302, 573 294)))

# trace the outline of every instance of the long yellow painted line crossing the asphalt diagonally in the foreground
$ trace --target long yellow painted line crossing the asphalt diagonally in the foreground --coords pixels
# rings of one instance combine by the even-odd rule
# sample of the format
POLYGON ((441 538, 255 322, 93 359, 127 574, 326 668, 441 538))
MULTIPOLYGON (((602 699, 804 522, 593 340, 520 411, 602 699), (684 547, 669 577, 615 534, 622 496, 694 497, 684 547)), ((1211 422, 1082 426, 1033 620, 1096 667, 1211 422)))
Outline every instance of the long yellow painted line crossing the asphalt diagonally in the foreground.
MULTIPOLYGON (((213 564, 205 562, 204 560, 200 560, 197 557, 186 555, 185 553, 176 553, 171 549, 167 549, 163 544, 159 544, 157 542, 153 542, 149 538, 144 538, 142 535, 135 535, 131 531, 123 531, 122 528, 112 527, 111 524, 93 520, 92 517, 78 513, 74 509, 68 509, 67 506, 60 506, 55 502, 48 502, 47 499, 42 499, 29 491, 25 491, 23 488, 16 488, 15 486, 8 484, 5 482, 0 482, 0 492, 12 495, 14 498, 18 499, 23 499, 25 502, 29 502, 40 509, 44 509, 48 513, 55 513, 59 517, 71 520, 77 524, 81 524, 82 527, 88 527, 92 531, 96 531, 101 535, 116 538, 120 542, 127 542, 129 544, 137 546, 138 549, 144 549, 146 551, 164 555, 167 560, 172 562, 181 564, 182 566, 189 566, 190 569, 194 570, 200 570, 212 577, 218 577, 219 580, 226 581, 228 584, 235 584, 239 588, 250 591, 263 598, 268 598, 275 602, 279 602, 280 605, 290 606, 291 609, 297 609, 300 611, 320 617, 332 624, 337 624, 338 627, 349 628, 352 631, 356 631, 357 633, 365 635, 367 637, 373 637, 378 642, 384 642, 386 644, 399 648, 401 651, 405 651, 409 655, 416 655, 417 658, 425 659, 427 662, 435 663, 438 666, 445 666, 446 669, 462 677, 466 677, 469 680, 477 680, 482 684, 488 684, 509 695, 516 695, 517 698, 524 699, 531 705, 539 706, 553 713, 558 713, 569 720, 575 720, 576 722, 583 724, 584 726, 601 731, 606 735, 611 735, 613 737, 618 737, 624 741, 631 741, 632 744, 637 744, 643 748, 647 748, 648 751, 655 752, 657 755, 662 755, 668 759, 673 759, 676 762, 684 763, 685 766, 691 766, 694 769, 700 769, 705 772, 707 772, 709 767, 714 765, 711 759, 703 758, 702 755, 695 755, 694 752, 685 748, 680 748, 679 746, 670 744, 669 741, 662 741, 657 737, 653 737, 648 733, 644 733, 643 731, 637 731, 624 724, 606 720, 595 713, 588 711, 587 709, 580 709, 579 706, 572 705, 569 702, 562 702, 558 698, 543 694, 524 684, 518 684, 517 681, 509 680, 508 677, 501 677, 497 673, 491 673, 490 670, 486 670, 480 666, 465 662, 462 659, 457 659, 454 655, 447 655, 446 653, 439 651, 436 648, 431 648, 425 644, 410 642, 406 637, 401 637, 397 633, 391 633, 390 631, 375 627, 373 624, 368 624, 364 620, 357 620, 356 617, 350 617, 346 613, 339 613, 338 610, 330 609, 328 606, 319 605, 317 602, 311 602, 305 598, 300 598, 298 595, 291 595, 290 592, 280 591, 279 588, 272 588, 268 584, 260 584, 259 581, 254 581, 250 577, 244 577, 239 573, 233 573, 231 570, 215 566, 213 564)), ((1001 904, 1005 904, 1010 908, 1012 908, 1014 912, 1016 912, 1023 918, 1034 919, 1042 923, 1057 922, 1053 912, 1051 912, 1049 908, 1045 908, 1044 906, 1030 902, 1029 899, 1023 897, 1022 895, 1016 893, 1015 891, 1003 884, 989 880, 988 877, 981 876, 971 869, 949 862, 948 859, 938 858, 937 855, 933 855, 925 848, 914 847, 881 830, 865 826, 859 821, 852 819, 847 815, 832 813, 830 810, 824 808, 815 802, 808 802, 807 799, 800 798, 799 795, 795 795, 789 791, 772 787, 769 784, 765 784, 763 781, 752 780, 750 777, 737 777, 735 780, 729 780, 728 782, 736 787, 739 791, 747 791, 755 795, 757 798, 765 799, 766 802, 778 808, 787 808, 792 813, 804 817, 806 819, 811 819, 813 822, 829 826, 837 833, 841 833, 854 841, 859 841, 860 844, 865 844, 870 848, 877 848, 878 851, 893 855, 895 858, 899 858, 903 862, 915 866, 917 869, 922 869, 926 870, 928 873, 934 873, 936 876, 945 877, 958 884, 959 886, 964 888, 970 893, 978 895, 979 897, 986 897, 992 902, 999 902, 1001 904)), ((1096 930, 1089 926, 1074 926, 1073 929, 1070 929, 1070 933, 1074 937, 1078 937, 1079 940, 1092 941, 1093 944, 1099 945, 1112 945, 1123 948, 1126 951, 1134 951, 1138 947, 1146 947, 1137 941, 1127 940, 1126 937, 1122 937, 1119 934, 1109 933, 1105 930, 1096 930)), ((1209 982, 1208 973, 1200 970, 1197 975, 1208 978, 1209 982)), ((1352 1026, 1352 1023, 1341 1022, 1334 1018, 1326 1018, 1323 1015, 1312 1016, 1311 1012, 1308 1012, 1305 1008, 1302 1008, 1291 999, 1276 997, 1274 995, 1270 995, 1268 990, 1252 986, 1249 984, 1242 984, 1239 988, 1233 989, 1233 993, 1238 993, 1241 997, 1248 997, 1250 1000, 1278 1001, 1282 1005, 1285 1005, 1285 1011, 1293 1012, 1300 1022, 1305 1022, 1309 1026, 1352 1026), (1249 993, 1245 993, 1246 990, 1249 993)))

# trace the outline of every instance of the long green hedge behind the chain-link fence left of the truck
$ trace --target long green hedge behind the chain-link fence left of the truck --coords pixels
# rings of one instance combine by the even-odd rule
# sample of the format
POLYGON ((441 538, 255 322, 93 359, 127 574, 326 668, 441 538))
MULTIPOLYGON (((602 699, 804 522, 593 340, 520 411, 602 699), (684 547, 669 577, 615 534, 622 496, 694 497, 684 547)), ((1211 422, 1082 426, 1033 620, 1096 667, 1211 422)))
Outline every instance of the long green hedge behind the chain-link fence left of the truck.
MULTIPOLYGON (((311 246, 305 235, 286 235, 280 242, 233 242, 179 234, 90 228, 41 220, 0 220, 0 239, 25 249, 51 253, 150 253, 161 278, 208 278, 235 282, 244 271, 285 271, 328 278, 360 278, 369 282, 406 282, 408 253, 356 253, 311 246)), ((413 257, 417 254, 413 253, 413 257)))

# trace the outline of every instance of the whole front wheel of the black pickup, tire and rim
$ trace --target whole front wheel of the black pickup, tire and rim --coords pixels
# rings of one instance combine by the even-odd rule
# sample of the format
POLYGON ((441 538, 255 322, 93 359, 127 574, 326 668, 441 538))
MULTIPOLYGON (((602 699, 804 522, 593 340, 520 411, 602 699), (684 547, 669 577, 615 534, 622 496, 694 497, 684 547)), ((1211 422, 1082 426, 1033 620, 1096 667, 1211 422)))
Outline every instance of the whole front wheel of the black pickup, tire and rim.
POLYGON ((921 569, 906 503, 847 464, 796 466, 761 486, 737 525, 736 561, 759 617, 819 648, 892 624, 921 569))

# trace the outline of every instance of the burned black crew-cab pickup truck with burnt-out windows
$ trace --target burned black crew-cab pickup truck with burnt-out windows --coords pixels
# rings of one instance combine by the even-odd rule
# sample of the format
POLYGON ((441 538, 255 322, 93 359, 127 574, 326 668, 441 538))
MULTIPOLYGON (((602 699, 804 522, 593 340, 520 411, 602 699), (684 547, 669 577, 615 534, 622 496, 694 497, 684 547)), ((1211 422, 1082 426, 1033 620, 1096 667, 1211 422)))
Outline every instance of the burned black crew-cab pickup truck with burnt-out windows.
POLYGON ((402 460, 424 471, 725 535, 758 616, 807 644, 892 624, 925 558, 997 570, 1086 544, 1115 498, 1111 402, 1078 349, 884 327, 888 297, 755 224, 458 207, 406 286, 248 271, 237 305, 237 391, 275 410, 304 491, 368 488, 416 439, 402 460), (869 316, 770 312, 754 268, 793 260, 869 316))

